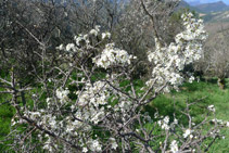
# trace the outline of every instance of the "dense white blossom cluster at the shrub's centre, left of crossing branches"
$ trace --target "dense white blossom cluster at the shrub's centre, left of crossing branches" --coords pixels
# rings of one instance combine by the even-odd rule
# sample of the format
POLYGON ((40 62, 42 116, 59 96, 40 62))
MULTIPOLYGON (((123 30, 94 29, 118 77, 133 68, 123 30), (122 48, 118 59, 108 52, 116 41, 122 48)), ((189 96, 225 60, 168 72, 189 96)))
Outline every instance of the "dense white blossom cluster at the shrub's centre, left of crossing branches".
MULTIPOLYGON (((105 117, 104 105, 110 98, 110 87, 104 81, 96 81, 93 85, 87 84, 85 90, 78 93, 78 102, 72 109, 80 109, 75 116, 81 120, 98 124, 105 117)), ((72 128, 71 128, 72 129, 72 128)))

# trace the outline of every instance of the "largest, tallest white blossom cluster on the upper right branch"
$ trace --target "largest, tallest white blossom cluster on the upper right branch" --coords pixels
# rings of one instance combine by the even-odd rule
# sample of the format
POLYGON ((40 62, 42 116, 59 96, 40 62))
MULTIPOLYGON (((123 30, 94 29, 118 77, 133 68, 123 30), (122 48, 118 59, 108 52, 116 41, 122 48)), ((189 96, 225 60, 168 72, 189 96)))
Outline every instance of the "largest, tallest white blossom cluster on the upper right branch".
MULTIPOLYGON (((206 39, 203 21, 196 21, 191 13, 182 15, 182 20, 186 30, 175 37, 175 42, 162 47, 155 39, 155 51, 148 55, 149 61, 155 64, 152 77, 158 87, 169 84, 178 89, 185 80, 180 72, 202 55, 202 41, 206 39)), ((190 81, 193 79, 191 76, 190 81)), ((150 79, 147 85, 150 86, 152 82, 153 79, 150 79)), ((167 86, 164 91, 169 91, 169 87, 167 86)))

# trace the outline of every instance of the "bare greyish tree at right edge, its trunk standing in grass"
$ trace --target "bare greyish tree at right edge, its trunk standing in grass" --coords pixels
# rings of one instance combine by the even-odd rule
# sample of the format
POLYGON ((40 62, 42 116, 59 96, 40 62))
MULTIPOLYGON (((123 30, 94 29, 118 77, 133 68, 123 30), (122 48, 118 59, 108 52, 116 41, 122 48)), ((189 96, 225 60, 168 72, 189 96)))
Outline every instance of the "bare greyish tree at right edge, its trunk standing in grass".
POLYGON ((225 89, 225 78, 229 77, 228 40, 228 29, 222 28, 215 36, 211 36, 204 47, 204 59, 199 64, 206 76, 218 78, 220 89, 225 89))

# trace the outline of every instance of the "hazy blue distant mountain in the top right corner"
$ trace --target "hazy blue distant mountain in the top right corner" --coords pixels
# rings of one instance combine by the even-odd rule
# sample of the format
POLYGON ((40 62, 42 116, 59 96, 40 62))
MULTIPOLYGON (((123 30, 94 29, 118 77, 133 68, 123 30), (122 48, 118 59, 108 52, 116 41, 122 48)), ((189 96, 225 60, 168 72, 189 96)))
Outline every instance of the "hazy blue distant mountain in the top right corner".
POLYGON ((229 7, 222 1, 200 4, 200 5, 195 5, 195 8, 204 13, 220 12, 220 11, 229 10, 229 7))

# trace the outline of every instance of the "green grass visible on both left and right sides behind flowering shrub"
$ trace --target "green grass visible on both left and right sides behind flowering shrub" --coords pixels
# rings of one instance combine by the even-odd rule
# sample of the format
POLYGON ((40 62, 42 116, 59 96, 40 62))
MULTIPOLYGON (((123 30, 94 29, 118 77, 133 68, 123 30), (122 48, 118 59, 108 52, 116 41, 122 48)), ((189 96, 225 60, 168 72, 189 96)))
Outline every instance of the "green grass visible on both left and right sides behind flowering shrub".
MULTIPOLYGON (((218 88, 216 79, 185 84, 180 92, 174 91, 156 98, 150 106, 148 106, 147 111, 153 113, 152 110, 156 107, 161 114, 171 115, 174 113, 174 103, 178 106, 183 106, 186 101, 193 102, 202 98, 205 99, 196 104, 199 109, 193 107, 194 114, 192 115, 196 120, 202 118, 203 112, 205 112, 206 107, 211 104, 215 105, 216 117, 218 119, 229 120, 229 79, 227 79, 225 90, 218 88)), ((1 94, 0 102, 5 102, 5 100, 7 97, 1 94)), ((10 122, 13 112, 14 110, 8 103, 0 105, 0 140, 10 131, 10 122)), ((224 129, 221 135, 225 136, 225 139, 217 139, 208 151, 209 153, 229 152, 229 129, 224 129)), ((3 144, 0 144, 0 152, 2 152, 3 148, 3 144)))

